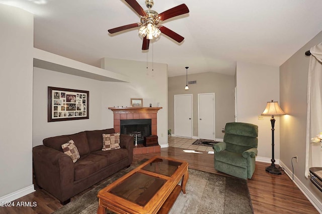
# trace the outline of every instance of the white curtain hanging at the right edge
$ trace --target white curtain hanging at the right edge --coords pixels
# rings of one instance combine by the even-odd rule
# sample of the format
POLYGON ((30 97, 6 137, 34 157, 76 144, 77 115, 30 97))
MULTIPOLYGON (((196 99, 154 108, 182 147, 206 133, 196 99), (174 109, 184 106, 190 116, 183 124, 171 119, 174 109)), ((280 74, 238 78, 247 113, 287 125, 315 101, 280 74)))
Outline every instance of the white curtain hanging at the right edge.
POLYGON ((322 132, 322 43, 312 47, 310 53, 307 76, 306 177, 310 167, 322 167, 321 145, 311 142, 312 137, 322 132))

